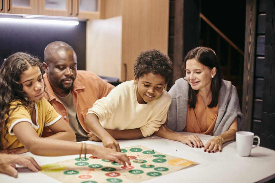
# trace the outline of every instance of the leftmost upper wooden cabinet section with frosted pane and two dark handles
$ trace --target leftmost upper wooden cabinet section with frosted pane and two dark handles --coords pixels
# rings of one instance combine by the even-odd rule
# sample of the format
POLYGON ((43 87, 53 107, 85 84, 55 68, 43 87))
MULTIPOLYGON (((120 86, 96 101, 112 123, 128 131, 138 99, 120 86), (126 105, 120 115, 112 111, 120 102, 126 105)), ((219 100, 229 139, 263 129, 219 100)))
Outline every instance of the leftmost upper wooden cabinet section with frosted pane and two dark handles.
POLYGON ((0 13, 38 14, 37 0, 0 0, 0 13))

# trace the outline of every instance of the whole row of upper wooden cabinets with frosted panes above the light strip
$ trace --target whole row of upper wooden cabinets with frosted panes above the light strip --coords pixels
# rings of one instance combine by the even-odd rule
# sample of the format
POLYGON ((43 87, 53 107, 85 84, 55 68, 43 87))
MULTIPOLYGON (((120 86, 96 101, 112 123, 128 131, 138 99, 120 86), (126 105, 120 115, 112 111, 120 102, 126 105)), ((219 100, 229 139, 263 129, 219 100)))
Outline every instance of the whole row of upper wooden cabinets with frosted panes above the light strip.
POLYGON ((101 1, 106 0, 0 0, 0 13, 99 19, 101 1))

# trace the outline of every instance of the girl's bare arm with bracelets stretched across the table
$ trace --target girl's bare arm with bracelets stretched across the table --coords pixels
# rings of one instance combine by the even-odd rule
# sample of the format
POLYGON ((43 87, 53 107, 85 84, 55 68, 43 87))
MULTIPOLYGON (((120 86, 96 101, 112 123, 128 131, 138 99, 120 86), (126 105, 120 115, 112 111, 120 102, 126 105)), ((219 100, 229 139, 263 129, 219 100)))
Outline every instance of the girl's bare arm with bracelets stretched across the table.
MULTIPOLYGON (((16 124, 13 127, 13 133, 23 144, 23 146, 25 146, 25 148, 27 148, 27 150, 29 150, 32 154, 40 156, 80 154, 80 143, 58 139, 40 138, 29 122, 20 122, 16 124)), ((86 147, 87 154, 93 154, 93 156, 98 158, 115 161, 119 164, 123 164, 124 166, 126 166, 125 162, 131 164, 129 158, 124 153, 92 144, 87 144, 86 147)), ((84 154, 84 146, 82 147, 81 154, 84 154)))

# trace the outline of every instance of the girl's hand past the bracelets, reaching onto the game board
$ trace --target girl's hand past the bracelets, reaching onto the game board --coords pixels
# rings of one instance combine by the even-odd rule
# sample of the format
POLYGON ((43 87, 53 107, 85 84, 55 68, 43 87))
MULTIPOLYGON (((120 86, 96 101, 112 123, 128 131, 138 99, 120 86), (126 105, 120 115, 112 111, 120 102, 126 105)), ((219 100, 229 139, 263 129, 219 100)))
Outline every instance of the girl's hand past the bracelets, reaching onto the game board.
POLYGON ((105 160, 110 160, 111 162, 117 162, 121 165, 124 165, 124 167, 126 167, 125 162, 131 165, 129 158, 126 156, 125 153, 120 152, 120 149, 119 152, 117 152, 115 151, 115 149, 97 147, 96 149, 94 149, 93 156, 105 160))

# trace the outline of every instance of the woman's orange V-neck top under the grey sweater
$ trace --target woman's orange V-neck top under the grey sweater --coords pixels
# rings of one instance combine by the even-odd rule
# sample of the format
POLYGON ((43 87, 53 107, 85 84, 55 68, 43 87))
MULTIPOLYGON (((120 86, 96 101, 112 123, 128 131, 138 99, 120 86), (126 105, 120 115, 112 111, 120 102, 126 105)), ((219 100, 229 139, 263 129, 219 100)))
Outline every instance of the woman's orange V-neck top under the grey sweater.
POLYGON ((213 135, 214 126, 218 116, 219 103, 214 108, 207 107, 203 98, 198 93, 195 108, 187 108, 186 126, 184 132, 193 132, 199 134, 213 135))

